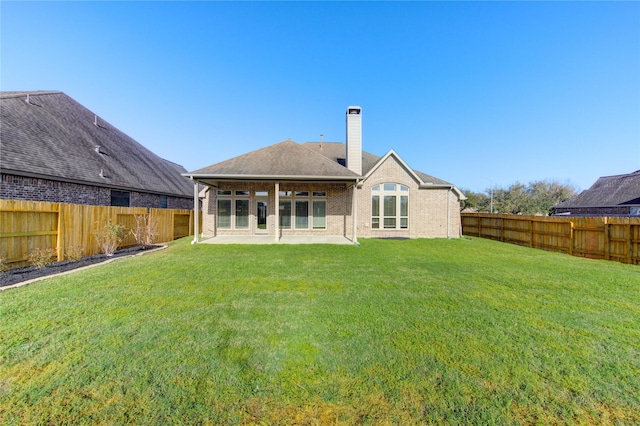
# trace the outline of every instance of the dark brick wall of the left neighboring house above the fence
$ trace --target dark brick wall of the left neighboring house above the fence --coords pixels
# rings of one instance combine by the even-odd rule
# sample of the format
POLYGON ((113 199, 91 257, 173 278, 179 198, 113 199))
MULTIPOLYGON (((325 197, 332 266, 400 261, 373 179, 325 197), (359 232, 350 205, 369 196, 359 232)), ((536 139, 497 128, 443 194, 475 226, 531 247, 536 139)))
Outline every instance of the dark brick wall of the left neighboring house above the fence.
MULTIPOLYGON (((131 207, 162 207, 161 195, 136 191, 127 192, 131 194, 131 207)), ((0 199, 109 206, 111 205, 111 189, 94 185, 2 174, 0 199)), ((192 210, 193 198, 167 196, 167 208, 192 210)))

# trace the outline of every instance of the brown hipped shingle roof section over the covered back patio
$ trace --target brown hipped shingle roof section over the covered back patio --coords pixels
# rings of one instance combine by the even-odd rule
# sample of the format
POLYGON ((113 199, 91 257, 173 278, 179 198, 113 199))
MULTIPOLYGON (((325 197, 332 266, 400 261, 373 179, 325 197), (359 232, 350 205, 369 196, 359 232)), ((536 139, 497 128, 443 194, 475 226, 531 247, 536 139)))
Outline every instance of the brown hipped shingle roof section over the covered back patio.
POLYGON ((359 176, 335 161, 292 140, 286 140, 187 173, 216 178, 322 178, 355 180, 359 176))

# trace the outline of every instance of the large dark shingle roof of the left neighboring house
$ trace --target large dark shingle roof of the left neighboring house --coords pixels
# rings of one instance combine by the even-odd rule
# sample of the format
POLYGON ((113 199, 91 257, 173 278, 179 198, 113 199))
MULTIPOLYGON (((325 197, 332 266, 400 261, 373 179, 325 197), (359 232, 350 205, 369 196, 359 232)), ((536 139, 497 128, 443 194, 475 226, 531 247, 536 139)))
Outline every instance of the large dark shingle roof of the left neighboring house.
POLYGON ((186 170, 62 92, 0 92, 3 173, 190 197, 186 170), (27 102, 27 95, 29 102, 27 102))

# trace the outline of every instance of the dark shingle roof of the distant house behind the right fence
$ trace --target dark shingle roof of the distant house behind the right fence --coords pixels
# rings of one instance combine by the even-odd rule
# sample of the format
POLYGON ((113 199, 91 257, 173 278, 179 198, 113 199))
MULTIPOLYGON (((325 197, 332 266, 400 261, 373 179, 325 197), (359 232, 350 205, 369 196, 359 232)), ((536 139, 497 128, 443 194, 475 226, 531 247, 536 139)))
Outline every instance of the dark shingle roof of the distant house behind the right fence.
POLYGON ((591 188, 572 200, 558 205, 564 207, 600 207, 640 204, 640 170, 633 173, 603 176, 591 188))

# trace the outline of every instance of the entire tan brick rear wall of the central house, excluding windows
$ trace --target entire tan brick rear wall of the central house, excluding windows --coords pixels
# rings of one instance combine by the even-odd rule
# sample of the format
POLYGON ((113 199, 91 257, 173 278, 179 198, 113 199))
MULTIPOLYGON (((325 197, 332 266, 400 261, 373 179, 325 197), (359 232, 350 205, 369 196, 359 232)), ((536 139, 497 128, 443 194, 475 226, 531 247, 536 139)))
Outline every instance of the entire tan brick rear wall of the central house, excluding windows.
MULTIPOLYGON (((325 191, 327 193, 326 229, 280 230, 280 235, 342 235, 353 238, 353 186, 344 183, 281 182, 280 191, 325 191)), ((207 191, 203 204, 202 234, 205 238, 216 235, 256 234, 256 191, 268 191, 268 219, 265 234, 275 236, 275 183, 261 181, 227 182, 207 191), (249 199, 248 229, 217 229, 217 190, 249 191, 248 196, 220 197, 232 200, 249 199)), ((421 189, 413 174, 395 157, 389 156, 357 189, 357 237, 377 238, 457 238, 461 235, 460 200, 449 188, 421 189), (371 228, 371 188, 383 183, 396 183, 409 188, 409 224, 407 229, 371 228)), ((283 199, 285 197, 280 197, 283 199)), ((296 197, 290 198, 292 201, 296 197)), ((313 200, 313 197, 304 197, 313 200)), ((293 203, 292 203, 293 204, 293 203)), ((292 206, 293 207, 293 206, 292 206)), ((233 210, 233 206, 232 206, 233 210)))

